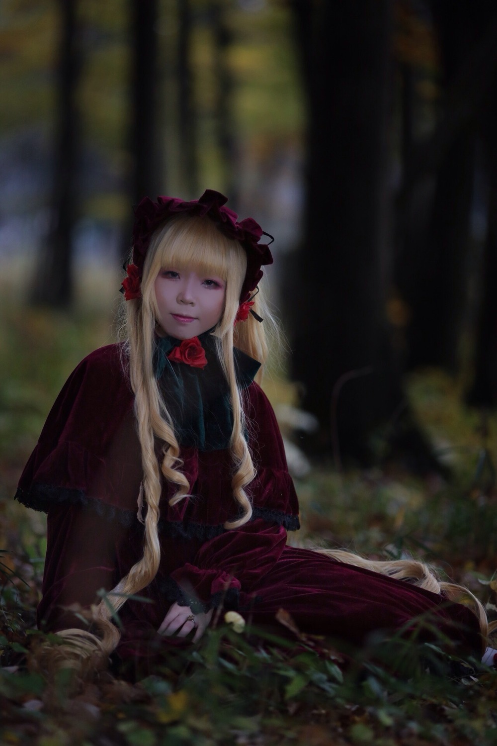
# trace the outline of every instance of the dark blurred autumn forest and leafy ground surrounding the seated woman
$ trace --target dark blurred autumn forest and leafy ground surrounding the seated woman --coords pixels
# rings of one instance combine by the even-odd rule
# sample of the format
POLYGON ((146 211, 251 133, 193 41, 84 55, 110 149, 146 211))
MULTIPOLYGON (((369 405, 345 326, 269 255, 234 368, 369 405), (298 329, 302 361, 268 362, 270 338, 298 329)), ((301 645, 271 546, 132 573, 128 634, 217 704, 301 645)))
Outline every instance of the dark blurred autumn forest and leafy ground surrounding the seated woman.
POLYGON ((267 387, 299 541, 421 554, 495 612, 495 4, 4 0, 0 55, 2 737, 155 744, 162 722, 171 743, 493 742, 492 674, 405 691, 368 662, 341 681, 300 639, 285 673, 265 650, 265 709, 259 653, 217 629, 205 680, 183 661, 165 689, 101 682, 74 721, 22 661, 45 524, 11 498, 66 376, 115 339, 131 206, 218 189, 276 238, 289 353, 267 387))

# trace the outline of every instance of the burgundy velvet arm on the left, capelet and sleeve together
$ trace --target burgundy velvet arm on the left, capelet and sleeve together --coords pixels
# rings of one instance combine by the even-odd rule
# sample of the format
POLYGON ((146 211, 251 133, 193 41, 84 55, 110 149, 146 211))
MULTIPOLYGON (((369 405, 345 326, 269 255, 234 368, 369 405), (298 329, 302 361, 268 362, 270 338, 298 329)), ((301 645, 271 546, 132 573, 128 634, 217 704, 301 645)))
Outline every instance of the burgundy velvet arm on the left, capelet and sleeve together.
MULTIPOLYGON (((142 463, 118 345, 86 357, 71 374, 48 415, 16 498, 48 513, 47 552, 39 626, 84 626, 68 608, 89 606, 127 567, 118 548, 136 525, 142 463)), ((121 551, 122 554, 122 551, 121 551)))

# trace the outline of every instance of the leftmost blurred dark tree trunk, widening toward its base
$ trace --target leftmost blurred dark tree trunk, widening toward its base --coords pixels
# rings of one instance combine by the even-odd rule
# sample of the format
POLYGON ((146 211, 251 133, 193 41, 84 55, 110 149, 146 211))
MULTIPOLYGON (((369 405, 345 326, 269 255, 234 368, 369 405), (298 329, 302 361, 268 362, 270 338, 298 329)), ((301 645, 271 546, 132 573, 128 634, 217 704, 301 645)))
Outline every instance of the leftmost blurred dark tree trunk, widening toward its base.
POLYGON ((56 72, 54 177, 48 235, 40 251, 31 291, 34 304, 67 308, 73 299, 73 233, 77 218, 79 127, 76 90, 81 72, 76 0, 58 0, 59 52, 56 72))

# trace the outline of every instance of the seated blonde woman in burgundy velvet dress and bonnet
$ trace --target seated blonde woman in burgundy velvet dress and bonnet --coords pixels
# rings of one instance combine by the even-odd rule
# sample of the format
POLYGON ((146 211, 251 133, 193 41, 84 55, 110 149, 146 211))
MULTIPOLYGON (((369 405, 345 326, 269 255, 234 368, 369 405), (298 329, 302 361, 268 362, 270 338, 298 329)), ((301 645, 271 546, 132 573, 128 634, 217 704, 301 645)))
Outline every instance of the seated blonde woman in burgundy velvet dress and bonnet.
POLYGON ((420 562, 286 545, 297 496, 256 383, 270 320, 256 287, 272 257, 226 201, 208 190, 136 208, 127 342, 69 377, 16 495, 48 512, 40 627, 69 655, 140 658, 197 641, 220 605, 260 624, 283 607, 353 645, 402 630, 481 655, 481 604, 454 603, 460 589, 420 562))

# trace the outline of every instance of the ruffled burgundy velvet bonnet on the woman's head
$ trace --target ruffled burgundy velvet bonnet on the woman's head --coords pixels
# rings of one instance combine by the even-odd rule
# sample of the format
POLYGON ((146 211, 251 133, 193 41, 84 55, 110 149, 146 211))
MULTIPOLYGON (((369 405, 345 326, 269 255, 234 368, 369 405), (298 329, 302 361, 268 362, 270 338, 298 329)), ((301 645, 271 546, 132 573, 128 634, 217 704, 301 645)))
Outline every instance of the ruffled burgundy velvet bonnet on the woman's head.
POLYGON ((238 221, 238 215, 233 210, 229 210, 229 207, 225 207, 226 202, 227 197, 213 189, 206 189, 199 199, 189 202, 165 196, 157 197, 157 201, 153 202, 151 198, 144 197, 135 208, 133 225, 133 265, 131 266, 137 268, 139 280, 142 279, 143 263, 151 237, 159 226, 164 225, 175 215, 206 215, 215 222, 221 233, 239 241, 247 253, 247 272, 241 288, 240 302, 247 301, 250 291, 256 288, 262 278, 261 267, 273 263, 269 244, 259 243, 259 241, 262 236, 268 236, 271 239, 270 243, 274 239, 269 233, 265 233, 253 218, 238 221))

